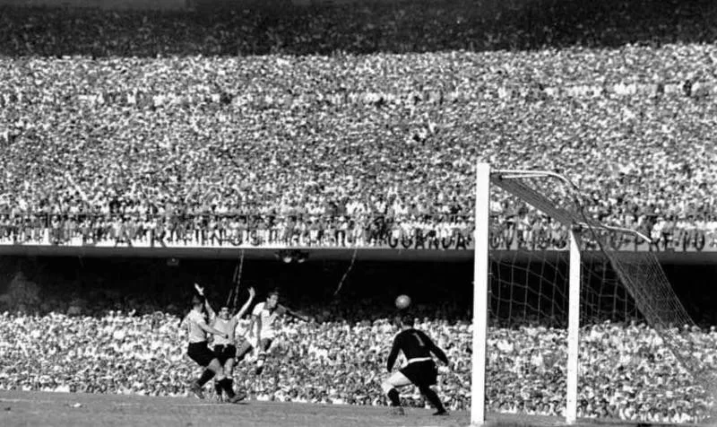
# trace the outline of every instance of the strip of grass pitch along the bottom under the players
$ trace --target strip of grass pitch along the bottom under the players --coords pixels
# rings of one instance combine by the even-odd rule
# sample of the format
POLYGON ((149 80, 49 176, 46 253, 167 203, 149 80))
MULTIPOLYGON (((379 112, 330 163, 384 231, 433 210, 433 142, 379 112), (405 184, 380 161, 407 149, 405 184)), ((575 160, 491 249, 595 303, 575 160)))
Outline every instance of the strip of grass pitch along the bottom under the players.
MULTIPOLYGON (((151 426, 189 427, 376 427, 468 426, 466 412, 435 417, 431 410, 407 408, 394 416, 386 407, 312 405, 248 401, 217 404, 189 397, 147 397, 0 391, 0 426, 151 426)), ((557 417, 488 414, 493 426, 565 425, 557 417)), ((575 426, 636 427, 649 424, 598 423, 581 420, 575 426)))

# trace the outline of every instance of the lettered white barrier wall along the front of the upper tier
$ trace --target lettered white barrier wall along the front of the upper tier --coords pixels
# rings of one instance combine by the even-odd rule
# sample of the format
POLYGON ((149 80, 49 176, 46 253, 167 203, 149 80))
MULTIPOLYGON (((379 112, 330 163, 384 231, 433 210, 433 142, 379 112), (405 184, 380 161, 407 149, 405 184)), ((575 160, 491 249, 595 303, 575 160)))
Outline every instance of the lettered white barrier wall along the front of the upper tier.
MULTIPOLYGON (((71 224, 72 225, 72 224, 71 224)), ((416 229, 406 232, 398 229, 376 228, 368 231, 333 231, 332 235, 321 230, 277 231, 266 228, 248 228, 238 233, 217 230, 194 231, 144 231, 138 237, 137 229, 123 225, 101 229, 82 228, 77 224, 65 229, 59 223, 51 227, 22 227, 8 225, 0 227, 0 252, 4 254, 28 253, 102 253, 108 249, 121 253, 222 253, 244 248, 250 250, 281 249, 333 249, 345 251, 377 249, 380 253, 422 252, 455 253, 471 255, 473 241, 470 230, 450 232, 416 229), (341 235, 341 237, 340 237, 341 235)), ((664 233, 647 243, 630 235, 609 236, 611 249, 624 253, 657 252, 659 257, 717 258, 717 233, 704 230, 664 233)), ((567 235, 564 231, 546 229, 530 232, 499 228, 490 231, 491 250, 507 252, 525 250, 567 249, 567 235)), ((590 240, 583 240, 584 251, 597 250, 590 240)), ((464 257, 456 255, 455 257, 464 257)), ((383 257, 383 256, 382 256, 383 257)))

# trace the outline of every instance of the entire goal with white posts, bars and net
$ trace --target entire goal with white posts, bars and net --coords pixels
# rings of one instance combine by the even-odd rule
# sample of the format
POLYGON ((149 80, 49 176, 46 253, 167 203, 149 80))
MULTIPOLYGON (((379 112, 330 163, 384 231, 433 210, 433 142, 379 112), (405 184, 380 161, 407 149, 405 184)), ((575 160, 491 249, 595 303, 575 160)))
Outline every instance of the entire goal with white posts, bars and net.
POLYGON ((486 414, 699 423, 715 364, 646 240, 557 173, 477 165, 471 425, 486 414))

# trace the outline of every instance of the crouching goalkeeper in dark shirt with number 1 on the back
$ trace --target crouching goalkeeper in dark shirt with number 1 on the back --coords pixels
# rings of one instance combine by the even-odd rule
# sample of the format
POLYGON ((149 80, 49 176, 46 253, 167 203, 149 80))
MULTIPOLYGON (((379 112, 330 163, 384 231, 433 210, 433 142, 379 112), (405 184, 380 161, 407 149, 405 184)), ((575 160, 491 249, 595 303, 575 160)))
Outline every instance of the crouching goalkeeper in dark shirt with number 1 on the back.
POLYGON ((404 315, 401 318, 396 318, 396 320, 399 327, 401 327, 401 332, 393 338, 393 347, 388 355, 386 368, 391 373, 400 351, 403 352, 408 363, 381 384, 381 388, 383 388, 384 393, 391 401, 393 414, 403 414, 401 399, 396 388, 409 386, 410 384, 418 387, 421 394, 426 396, 428 402, 436 408, 434 415, 448 414, 443 403, 441 403, 441 399, 431 388, 431 386, 436 385, 438 375, 436 362, 433 361, 431 353, 435 354, 445 364, 448 364, 448 358, 443 350, 433 344, 428 335, 413 328, 413 318, 404 315))

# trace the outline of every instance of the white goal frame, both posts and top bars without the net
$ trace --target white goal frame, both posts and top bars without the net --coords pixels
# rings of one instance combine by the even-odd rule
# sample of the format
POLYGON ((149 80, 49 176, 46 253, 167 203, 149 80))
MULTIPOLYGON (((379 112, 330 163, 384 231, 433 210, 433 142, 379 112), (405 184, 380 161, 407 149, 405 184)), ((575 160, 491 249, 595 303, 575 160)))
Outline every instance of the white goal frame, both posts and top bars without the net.
MULTIPOLYGON (((566 177, 542 170, 491 170, 488 163, 476 165, 476 204, 475 204, 475 246, 473 260, 473 318, 472 318, 472 354, 471 354, 471 426, 480 426, 486 422, 486 361, 488 345, 488 300, 490 256, 490 187, 494 179, 557 179, 574 197, 574 203, 581 205, 579 187, 566 177)), ((504 188, 505 189, 505 188, 504 188)), ((508 190, 510 192, 510 190, 508 190)), ((568 229, 568 325, 567 325, 567 364, 566 364, 566 423, 577 420, 577 390, 579 378, 579 338, 580 338, 580 302, 581 302, 581 240, 580 231, 600 227, 603 230, 633 234, 647 242, 651 240, 639 231, 612 227, 602 224, 589 224, 588 219, 575 218, 554 206, 545 205, 546 200, 529 200, 535 207, 557 213, 557 221, 568 229), (537 202, 537 203, 536 203, 537 202), (562 211, 562 212, 561 212, 562 211), (564 213, 564 214, 562 214, 564 213), (583 221, 580 221, 583 219, 583 221)), ((540 249, 539 249, 540 250, 540 249)))

